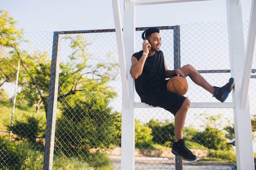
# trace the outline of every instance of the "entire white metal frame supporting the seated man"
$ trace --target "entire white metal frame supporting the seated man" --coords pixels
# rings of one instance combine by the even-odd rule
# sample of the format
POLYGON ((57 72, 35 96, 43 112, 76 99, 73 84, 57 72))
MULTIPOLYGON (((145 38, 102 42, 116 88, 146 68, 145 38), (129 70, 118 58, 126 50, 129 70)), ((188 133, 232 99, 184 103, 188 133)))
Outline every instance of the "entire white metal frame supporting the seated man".
MULTIPOLYGON (((122 76, 121 170, 135 168, 134 108, 149 108, 134 102, 134 80, 129 74, 130 55, 135 52, 135 7, 148 4, 192 2, 200 0, 124 0, 124 23, 121 29, 119 0, 112 0, 117 32, 119 62, 122 76), (123 33, 122 33, 123 32, 123 33), (127 56, 127 57, 126 57, 127 56)), ((231 76, 235 78, 233 102, 191 103, 191 108, 233 108, 238 170, 253 170, 254 155, 249 112, 248 88, 256 36, 256 3, 252 0, 248 41, 245 54, 243 20, 240 0, 226 0, 231 76), (236 68, 236 69, 234 69, 236 68)))

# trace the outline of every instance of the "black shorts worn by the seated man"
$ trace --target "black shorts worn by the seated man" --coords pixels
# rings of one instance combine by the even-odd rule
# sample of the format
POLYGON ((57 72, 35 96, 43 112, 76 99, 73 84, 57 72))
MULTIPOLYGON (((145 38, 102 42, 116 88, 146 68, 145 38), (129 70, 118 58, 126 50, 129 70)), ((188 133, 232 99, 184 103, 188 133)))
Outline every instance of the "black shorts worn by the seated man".
POLYGON ((164 108, 175 116, 186 98, 187 97, 177 95, 167 90, 161 90, 157 93, 157 97, 155 97, 151 105, 164 108))

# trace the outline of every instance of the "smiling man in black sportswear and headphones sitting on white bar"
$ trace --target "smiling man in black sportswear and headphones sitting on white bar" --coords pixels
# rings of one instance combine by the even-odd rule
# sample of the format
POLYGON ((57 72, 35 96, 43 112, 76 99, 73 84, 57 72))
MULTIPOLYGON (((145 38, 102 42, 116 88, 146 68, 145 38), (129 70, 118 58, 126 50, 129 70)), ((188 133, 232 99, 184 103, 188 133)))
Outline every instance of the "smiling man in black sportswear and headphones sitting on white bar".
POLYGON ((209 91, 220 102, 224 102, 232 88, 234 87, 234 78, 222 87, 211 86, 196 69, 187 64, 180 69, 168 70, 164 54, 160 50, 161 36, 159 29, 150 27, 142 33, 141 51, 132 55, 132 66, 130 74, 135 79, 135 88, 141 98, 141 102, 152 106, 159 106, 170 111, 175 116, 175 140, 173 141, 172 153, 187 161, 195 161, 197 157, 185 146, 182 138, 182 131, 189 110, 190 100, 187 97, 167 91, 168 80, 173 76, 191 80, 209 91), (148 41, 148 42, 147 42, 148 41))

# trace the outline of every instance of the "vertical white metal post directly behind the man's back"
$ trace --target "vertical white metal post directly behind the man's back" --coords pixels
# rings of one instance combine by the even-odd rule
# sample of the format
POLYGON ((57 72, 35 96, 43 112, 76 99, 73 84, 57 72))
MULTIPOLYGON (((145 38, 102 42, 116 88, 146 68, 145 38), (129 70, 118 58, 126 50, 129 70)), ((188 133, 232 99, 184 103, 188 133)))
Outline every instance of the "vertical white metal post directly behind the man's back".
MULTIPOLYGON (((135 169, 135 113, 134 102, 134 79, 130 76, 131 55, 135 49, 135 2, 134 0, 124 3, 124 51, 126 56, 126 73, 129 86, 130 108, 122 106, 122 132, 121 132, 121 170, 135 169)), ((124 94, 123 94, 124 98, 124 94)), ((122 99, 124 104, 124 99, 122 99)))

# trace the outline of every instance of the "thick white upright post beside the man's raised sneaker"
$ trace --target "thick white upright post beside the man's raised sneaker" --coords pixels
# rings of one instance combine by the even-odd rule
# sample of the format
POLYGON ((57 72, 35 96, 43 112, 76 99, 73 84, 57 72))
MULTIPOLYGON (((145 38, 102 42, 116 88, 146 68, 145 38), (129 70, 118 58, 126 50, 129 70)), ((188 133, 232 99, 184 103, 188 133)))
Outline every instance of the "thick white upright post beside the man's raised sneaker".
POLYGON ((245 64, 245 44, 243 34, 243 18, 240 0, 226 0, 227 25, 229 36, 229 55, 231 76, 235 78, 233 91, 234 128, 236 139, 236 163, 238 170, 253 170, 254 155, 252 146, 252 127, 249 104, 241 109, 241 85, 245 64))

